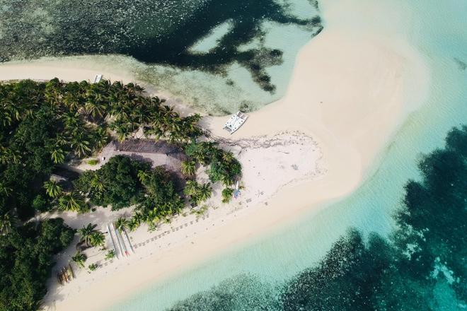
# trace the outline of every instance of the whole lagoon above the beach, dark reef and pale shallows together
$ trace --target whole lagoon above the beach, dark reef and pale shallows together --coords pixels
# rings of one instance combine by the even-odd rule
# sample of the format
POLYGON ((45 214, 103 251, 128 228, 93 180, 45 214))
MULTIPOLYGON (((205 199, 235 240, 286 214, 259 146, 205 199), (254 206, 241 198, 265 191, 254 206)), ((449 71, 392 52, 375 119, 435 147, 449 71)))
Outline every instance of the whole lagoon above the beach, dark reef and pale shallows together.
POLYGON ((0 13, 0 61, 127 71, 214 115, 281 98, 322 28, 312 0, 4 0, 0 13))

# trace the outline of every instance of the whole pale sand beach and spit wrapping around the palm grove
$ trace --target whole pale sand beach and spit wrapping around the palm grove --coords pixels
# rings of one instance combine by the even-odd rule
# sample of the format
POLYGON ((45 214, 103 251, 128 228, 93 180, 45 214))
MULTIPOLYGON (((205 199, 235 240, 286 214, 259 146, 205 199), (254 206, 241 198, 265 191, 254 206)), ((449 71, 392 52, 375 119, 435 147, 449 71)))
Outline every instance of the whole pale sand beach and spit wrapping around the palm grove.
MULTIPOLYGON (((80 272, 62 288, 51 285, 45 298, 49 310, 103 310, 155 281, 285 225, 304 211, 317 211, 323 202, 352 192, 371 174, 398 126, 422 102, 430 73, 420 54, 395 34, 333 24, 342 13, 332 6, 326 13, 331 26, 301 49, 282 100, 251 113, 233 135, 222 130, 226 117, 202 120, 213 136, 244 149, 240 160, 246 190, 241 199, 228 206, 218 203, 204 220, 191 215, 153 234, 140 229, 132 234, 132 242, 145 245, 129 258, 115 259, 92 274, 80 272), (274 140, 279 146, 265 146, 274 140)), ((74 81, 98 73, 134 81, 97 65, 0 66, 1 80, 58 76, 74 81)), ((63 217, 76 227, 89 221, 107 223, 122 213, 110 216, 99 210, 80 223, 73 215, 63 217)))

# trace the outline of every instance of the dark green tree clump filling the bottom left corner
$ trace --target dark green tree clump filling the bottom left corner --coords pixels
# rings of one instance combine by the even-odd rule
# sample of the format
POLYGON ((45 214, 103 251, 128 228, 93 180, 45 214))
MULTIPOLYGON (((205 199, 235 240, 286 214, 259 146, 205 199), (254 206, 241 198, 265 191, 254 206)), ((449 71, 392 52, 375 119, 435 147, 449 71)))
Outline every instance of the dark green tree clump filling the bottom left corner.
POLYGON ((47 292, 52 255, 73 240, 62 218, 14 226, 0 235, 0 310, 38 310, 47 292))

